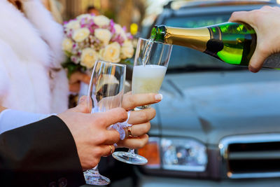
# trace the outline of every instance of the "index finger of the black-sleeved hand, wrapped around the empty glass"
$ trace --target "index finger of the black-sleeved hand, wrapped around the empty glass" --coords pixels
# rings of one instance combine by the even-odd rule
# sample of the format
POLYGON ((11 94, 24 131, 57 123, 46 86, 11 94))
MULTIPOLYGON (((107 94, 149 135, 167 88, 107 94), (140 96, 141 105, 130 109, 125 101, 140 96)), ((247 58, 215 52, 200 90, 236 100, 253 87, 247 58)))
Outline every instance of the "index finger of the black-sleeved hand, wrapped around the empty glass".
POLYGON ((127 111, 123 108, 115 108, 106 112, 94 113, 92 117, 94 120, 97 120, 100 125, 109 127, 115 123, 127 120, 127 111))

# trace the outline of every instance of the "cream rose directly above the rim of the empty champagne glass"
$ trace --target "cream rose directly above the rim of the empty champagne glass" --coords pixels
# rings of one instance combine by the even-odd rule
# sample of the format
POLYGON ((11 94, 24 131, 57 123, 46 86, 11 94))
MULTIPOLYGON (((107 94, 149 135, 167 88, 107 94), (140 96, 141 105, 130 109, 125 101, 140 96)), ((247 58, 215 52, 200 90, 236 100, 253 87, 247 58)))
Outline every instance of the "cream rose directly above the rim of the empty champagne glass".
POLYGON ((120 44, 113 42, 99 51, 102 60, 107 62, 120 62, 120 44))

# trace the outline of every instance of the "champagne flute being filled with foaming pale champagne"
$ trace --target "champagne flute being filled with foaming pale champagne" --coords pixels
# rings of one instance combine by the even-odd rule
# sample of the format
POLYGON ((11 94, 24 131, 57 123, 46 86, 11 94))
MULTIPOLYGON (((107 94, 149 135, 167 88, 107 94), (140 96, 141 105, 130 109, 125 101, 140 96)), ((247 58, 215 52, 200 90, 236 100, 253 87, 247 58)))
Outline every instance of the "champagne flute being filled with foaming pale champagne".
MULTIPOLYGON (((132 94, 158 93, 163 78, 167 71, 172 45, 148 39, 139 39, 134 58, 132 74, 132 94)), ((134 110, 142 110, 150 105, 139 106, 134 110)), ((148 160, 134 153, 118 151, 113 153, 113 158, 133 165, 145 165, 148 160)))

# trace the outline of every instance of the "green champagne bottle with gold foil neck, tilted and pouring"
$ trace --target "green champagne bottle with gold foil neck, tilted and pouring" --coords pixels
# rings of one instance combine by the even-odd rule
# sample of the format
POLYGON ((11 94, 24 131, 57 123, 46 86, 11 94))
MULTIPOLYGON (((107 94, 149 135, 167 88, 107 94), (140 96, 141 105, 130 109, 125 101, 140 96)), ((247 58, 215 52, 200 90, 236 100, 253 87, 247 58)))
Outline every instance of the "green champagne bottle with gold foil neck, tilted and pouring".
MULTIPOLYGON (((255 30, 245 23, 225 22, 195 29, 155 26, 151 39, 200 50, 228 64, 248 66, 255 51, 255 30)), ((263 67, 280 68, 280 55, 271 55, 263 67)))

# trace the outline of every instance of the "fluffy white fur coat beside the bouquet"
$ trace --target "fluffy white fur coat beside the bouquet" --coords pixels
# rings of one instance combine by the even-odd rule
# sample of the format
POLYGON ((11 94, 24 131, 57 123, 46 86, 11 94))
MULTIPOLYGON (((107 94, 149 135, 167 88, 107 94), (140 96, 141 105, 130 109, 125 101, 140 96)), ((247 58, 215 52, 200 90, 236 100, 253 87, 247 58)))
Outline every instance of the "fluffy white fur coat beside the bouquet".
POLYGON ((62 26, 39 0, 24 0, 23 9, 0 0, 0 105, 62 112, 68 104, 62 26))

